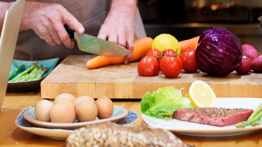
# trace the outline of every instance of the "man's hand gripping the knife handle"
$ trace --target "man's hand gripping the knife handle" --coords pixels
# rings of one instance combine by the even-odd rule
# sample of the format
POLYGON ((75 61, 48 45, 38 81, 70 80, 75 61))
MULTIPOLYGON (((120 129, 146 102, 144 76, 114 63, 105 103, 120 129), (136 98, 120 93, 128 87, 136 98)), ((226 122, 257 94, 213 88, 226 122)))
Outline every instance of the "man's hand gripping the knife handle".
POLYGON ((67 48, 73 48, 74 43, 65 30, 65 24, 79 34, 85 31, 83 25, 63 6, 56 3, 28 1, 25 4, 20 31, 32 29, 52 46, 63 43, 67 48))

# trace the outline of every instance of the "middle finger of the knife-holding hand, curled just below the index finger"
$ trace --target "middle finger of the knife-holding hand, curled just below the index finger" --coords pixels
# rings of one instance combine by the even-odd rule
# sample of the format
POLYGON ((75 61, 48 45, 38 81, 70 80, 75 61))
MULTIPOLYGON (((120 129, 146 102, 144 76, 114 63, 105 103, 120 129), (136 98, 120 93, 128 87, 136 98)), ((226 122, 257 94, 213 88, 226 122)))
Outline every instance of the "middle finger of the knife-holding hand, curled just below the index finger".
POLYGON ((73 48, 74 47, 74 43, 69 38, 69 35, 67 34, 63 23, 57 23, 56 25, 54 25, 54 30, 56 31, 58 37, 63 42, 63 44, 65 44, 65 47, 67 47, 67 48, 73 48))

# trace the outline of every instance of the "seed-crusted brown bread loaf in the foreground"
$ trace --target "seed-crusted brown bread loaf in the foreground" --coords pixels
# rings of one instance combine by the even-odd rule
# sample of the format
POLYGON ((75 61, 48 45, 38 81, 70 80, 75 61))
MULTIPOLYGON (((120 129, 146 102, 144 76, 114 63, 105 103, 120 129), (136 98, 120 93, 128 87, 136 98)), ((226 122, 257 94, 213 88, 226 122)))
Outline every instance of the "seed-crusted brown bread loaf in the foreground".
POLYGON ((122 126, 112 122, 76 129, 67 137, 66 147, 76 146, 191 147, 167 130, 147 125, 122 126))

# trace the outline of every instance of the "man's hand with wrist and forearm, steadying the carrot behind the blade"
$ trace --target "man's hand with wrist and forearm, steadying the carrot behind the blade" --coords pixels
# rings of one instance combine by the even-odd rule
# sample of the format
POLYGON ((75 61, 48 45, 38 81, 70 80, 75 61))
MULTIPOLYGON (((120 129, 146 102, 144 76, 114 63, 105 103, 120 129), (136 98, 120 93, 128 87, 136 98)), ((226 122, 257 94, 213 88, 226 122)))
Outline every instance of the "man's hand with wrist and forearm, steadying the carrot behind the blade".
POLYGON ((133 56, 135 11, 136 0, 113 0, 109 14, 97 36, 127 48, 129 54, 125 57, 125 64, 133 56))

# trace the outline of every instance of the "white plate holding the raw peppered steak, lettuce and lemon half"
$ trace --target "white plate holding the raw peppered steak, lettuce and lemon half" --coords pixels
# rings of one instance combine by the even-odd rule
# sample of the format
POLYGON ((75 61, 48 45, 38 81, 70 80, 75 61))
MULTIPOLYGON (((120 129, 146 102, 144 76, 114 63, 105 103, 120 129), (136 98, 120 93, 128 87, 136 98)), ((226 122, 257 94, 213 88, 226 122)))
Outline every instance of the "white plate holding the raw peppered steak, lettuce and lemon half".
MULTIPOLYGON (((223 107, 223 108, 247 108, 247 109, 255 110, 260 105, 260 103, 262 103, 262 99, 260 98, 217 98, 216 99, 216 107, 223 107)), ((167 129, 178 134, 189 135, 189 136, 206 136, 206 137, 235 136, 235 135, 241 135, 241 134, 249 133, 251 131, 262 129, 262 125, 246 126, 245 128, 236 128, 235 125, 219 127, 219 126, 203 125, 193 122, 179 121, 176 119, 166 121, 166 120, 150 117, 144 114, 142 114, 142 117, 144 121, 152 127, 167 129)))

